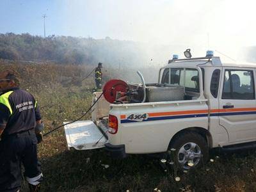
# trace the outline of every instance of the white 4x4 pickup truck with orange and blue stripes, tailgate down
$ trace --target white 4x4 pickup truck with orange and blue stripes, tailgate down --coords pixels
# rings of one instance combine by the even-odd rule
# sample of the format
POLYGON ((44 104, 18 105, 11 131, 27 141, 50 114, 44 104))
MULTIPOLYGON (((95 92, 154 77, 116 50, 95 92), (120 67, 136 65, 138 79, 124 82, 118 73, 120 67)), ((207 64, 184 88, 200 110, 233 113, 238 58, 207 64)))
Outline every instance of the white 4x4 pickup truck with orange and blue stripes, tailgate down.
POLYGON ((122 92, 115 83, 103 89, 107 96, 93 107, 92 120, 65 126, 68 148, 105 147, 114 157, 174 148, 173 161, 188 169, 206 161, 211 148, 255 147, 255 72, 256 65, 221 63, 212 54, 173 58, 160 68, 158 83, 141 76, 142 84, 121 82, 122 92))

